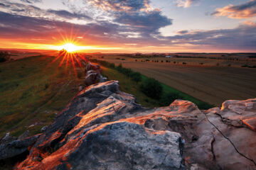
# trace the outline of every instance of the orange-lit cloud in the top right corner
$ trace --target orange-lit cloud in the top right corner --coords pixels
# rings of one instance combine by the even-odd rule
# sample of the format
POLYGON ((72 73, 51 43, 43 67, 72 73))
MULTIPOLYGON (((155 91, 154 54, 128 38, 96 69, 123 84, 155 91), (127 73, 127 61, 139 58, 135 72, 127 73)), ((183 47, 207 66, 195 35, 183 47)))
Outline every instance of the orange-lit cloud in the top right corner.
POLYGON ((217 8, 212 13, 215 16, 228 16, 228 18, 252 18, 256 16, 256 0, 247 1, 245 4, 237 6, 229 5, 223 8, 217 8))

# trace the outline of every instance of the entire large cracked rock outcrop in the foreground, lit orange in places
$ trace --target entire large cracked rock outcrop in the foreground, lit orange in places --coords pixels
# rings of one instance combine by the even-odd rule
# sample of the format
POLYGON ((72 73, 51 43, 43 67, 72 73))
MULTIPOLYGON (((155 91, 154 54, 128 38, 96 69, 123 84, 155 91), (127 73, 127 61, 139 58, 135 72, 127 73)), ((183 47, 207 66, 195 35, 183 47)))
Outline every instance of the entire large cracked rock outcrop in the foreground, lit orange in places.
POLYGON ((88 86, 16 169, 256 169, 256 99, 144 108, 118 81, 88 86))

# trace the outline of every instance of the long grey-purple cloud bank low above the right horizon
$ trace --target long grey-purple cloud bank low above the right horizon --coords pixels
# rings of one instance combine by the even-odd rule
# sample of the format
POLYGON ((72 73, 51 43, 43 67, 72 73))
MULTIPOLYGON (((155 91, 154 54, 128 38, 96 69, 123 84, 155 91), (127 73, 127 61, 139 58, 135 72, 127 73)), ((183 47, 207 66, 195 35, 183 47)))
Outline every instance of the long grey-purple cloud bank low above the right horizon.
POLYGON ((256 23, 244 23, 238 28, 196 30, 168 38, 176 44, 208 45, 216 49, 256 50, 256 23))

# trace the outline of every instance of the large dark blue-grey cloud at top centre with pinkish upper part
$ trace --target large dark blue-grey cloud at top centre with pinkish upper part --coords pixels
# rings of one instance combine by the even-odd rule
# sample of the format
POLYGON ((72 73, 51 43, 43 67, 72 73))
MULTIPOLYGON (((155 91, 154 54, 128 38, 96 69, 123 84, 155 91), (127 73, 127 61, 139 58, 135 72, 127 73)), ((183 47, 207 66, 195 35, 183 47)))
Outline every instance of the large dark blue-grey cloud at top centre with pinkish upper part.
POLYGON ((159 34, 159 28, 171 25, 170 18, 158 8, 152 8, 149 0, 88 0, 89 4, 106 11, 114 23, 127 26, 140 36, 159 34))

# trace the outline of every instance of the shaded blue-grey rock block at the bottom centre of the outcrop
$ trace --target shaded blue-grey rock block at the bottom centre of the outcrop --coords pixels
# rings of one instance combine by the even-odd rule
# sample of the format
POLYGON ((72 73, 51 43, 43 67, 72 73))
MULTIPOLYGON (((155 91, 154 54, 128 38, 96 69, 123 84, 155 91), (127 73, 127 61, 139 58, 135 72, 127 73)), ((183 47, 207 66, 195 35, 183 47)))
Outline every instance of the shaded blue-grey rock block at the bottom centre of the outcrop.
POLYGON ((180 169, 180 147, 181 135, 176 132, 146 131, 134 123, 113 123, 87 132, 68 160, 73 169, 180 169))

